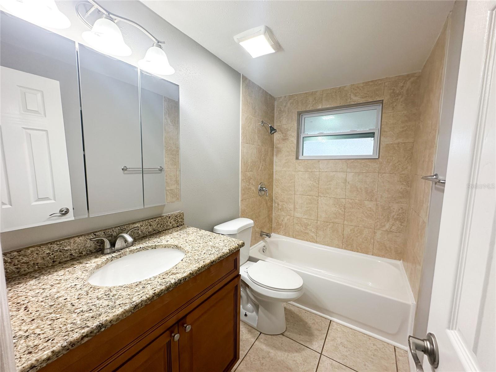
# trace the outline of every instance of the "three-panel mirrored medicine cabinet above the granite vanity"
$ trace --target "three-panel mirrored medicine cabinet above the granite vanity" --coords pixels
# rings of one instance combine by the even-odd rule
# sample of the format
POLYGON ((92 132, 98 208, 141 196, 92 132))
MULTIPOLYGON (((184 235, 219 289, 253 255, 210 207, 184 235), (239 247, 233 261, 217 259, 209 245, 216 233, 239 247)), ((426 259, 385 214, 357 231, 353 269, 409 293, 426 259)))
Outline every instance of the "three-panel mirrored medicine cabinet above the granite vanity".
POLYGON ((180 201, 179 86, 0 17, 0 231, 180 201))

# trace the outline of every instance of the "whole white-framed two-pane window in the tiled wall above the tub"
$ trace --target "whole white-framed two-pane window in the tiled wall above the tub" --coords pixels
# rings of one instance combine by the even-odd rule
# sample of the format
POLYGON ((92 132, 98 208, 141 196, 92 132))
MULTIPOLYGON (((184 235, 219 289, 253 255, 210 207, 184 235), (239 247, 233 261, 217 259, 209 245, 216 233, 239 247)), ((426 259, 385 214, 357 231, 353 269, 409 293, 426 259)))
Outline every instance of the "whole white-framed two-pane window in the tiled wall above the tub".
POLYGON ((376 159, 382 103, 300 115, 299 159, 376 159))

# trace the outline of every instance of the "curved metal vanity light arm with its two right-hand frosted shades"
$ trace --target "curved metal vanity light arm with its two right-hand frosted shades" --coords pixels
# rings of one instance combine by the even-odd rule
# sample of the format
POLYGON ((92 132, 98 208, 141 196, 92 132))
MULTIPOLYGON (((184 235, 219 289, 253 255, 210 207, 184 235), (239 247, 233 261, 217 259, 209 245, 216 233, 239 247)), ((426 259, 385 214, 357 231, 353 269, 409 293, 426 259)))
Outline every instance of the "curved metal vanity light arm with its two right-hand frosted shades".
POLYGON ((140 24, 108 11, 94 0, 77 3, 76 14, 91 29, 91 31, 83 32, 83 39, 96 50, 113 56, 130 56, 131 49, 125 44, 121 30, 116 24, 125 22, 138 28, 153 40, 153 45, 147 50, 145 57, 138 61, 139 68, 157 75, 172 75, 175 72, 160 45, 165 42, 158 40, 140 24), (91 25, 89 19, 94 19, 94 13, 98 18, 91 25))

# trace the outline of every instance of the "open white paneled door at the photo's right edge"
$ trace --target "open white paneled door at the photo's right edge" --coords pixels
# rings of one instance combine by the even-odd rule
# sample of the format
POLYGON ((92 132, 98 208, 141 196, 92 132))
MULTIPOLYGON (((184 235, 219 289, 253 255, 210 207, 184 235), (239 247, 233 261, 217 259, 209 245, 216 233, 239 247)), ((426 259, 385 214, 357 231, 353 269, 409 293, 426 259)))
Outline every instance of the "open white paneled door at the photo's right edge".
POLYGON ((467 4, 428 323, 435 371, 496 371, 495 8, 467 4))

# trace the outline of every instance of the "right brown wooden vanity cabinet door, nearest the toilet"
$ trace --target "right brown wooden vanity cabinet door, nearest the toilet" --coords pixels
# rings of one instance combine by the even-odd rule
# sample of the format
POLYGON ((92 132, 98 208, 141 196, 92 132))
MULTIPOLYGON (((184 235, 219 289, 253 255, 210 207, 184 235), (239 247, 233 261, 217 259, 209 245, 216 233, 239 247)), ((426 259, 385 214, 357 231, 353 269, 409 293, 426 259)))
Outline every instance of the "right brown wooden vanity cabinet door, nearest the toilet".
POLYGON ((181 371, 229 371, 240 354, 240 277, 181 319, 179 333, 181 371))

